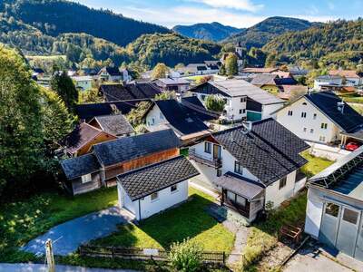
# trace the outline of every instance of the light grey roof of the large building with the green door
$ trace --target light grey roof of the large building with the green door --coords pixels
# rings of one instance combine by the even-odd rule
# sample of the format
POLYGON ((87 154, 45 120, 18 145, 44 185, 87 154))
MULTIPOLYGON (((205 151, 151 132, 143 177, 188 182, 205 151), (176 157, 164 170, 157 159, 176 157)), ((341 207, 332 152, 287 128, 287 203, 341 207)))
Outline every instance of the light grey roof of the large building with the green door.
POLYGON ((231 79, 208 83, 219 89, 221 92, 226 93, 227 96, 248 96, 253 101, 259 102, 262 105, 283 103, 282 100, 270 94, 269 92, 266 92, 244 80, 231 79))

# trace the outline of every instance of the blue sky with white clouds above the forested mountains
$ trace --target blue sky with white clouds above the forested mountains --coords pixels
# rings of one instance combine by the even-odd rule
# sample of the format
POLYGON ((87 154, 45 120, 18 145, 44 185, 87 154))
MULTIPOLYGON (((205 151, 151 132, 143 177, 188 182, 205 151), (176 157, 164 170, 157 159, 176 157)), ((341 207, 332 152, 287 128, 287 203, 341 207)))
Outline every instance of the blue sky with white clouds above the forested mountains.
POLYGON ((124 16, 172 27, 175 24, 220 22, 248 27, 280 15, 327 22, 356 19, 363 0, 74 0, 124 16))

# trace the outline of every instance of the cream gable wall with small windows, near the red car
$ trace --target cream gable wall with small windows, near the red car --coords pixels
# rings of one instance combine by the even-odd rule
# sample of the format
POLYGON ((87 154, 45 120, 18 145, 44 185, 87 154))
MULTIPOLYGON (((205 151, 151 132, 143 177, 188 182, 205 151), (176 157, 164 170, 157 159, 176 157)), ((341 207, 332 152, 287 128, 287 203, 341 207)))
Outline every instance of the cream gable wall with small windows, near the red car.
POLYGON ((329 143, 340 140, 338 127, 305 98, 301 98, 278 112, 277 121, 306 141, 329 143), (304 102, 307 104, 303 105, 304 102), (289 111, 292 111, 292 116, 289 116, 289 111), (307 113, 306 118, 301 118, 301 112, 307 113), (314 114, 317 114, 315 119, 314 114), (328 123, 328 128, 321 129, 321 123, 328 123), (325 137, 325 139, 320 137, 325 137))

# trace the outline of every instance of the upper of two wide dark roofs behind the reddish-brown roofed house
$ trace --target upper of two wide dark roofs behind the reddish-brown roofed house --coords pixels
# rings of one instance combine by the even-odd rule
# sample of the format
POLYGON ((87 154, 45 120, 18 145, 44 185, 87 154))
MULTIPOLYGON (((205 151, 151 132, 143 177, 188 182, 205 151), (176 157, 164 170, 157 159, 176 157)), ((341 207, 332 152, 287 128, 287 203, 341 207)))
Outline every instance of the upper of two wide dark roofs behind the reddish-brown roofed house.
POLYGON ((152 99, 162 93, 152 83, 102 84, 99 92, 106 102, 152 99))

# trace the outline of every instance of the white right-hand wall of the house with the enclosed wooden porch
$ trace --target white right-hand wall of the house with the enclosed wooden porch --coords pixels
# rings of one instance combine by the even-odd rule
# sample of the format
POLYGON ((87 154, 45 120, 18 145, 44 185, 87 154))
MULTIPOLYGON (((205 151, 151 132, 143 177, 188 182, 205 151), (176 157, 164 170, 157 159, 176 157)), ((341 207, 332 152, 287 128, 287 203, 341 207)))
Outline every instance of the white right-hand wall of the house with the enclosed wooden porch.
POLYGON ((279 189, 280 180, 270 184, 270 186, 266 188, 265 203, 271 201, 273 203, 273 208, 278 208, 283 201, 293 197, 295 189, 295 180, 296 180, 296 171, 293 171, 292 173, 289 173, 285 187, 279 189))

